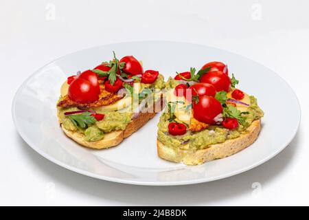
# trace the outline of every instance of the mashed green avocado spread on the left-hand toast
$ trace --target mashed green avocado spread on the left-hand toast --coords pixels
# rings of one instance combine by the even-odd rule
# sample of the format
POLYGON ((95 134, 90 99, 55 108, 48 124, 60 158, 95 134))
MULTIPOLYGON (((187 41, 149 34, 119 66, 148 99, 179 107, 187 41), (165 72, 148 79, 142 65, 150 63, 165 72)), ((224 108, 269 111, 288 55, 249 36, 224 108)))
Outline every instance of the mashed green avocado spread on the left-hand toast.
MULTIPOLYGON (((165 87, 164 77, 163 75, 159 74, 155 83, 141 83, 141 87, 163 89, 165 87)), ((100 111, 100 109, 89 109, 95 111, 96 113, 104 114, 104 119, 99 122, 95 122, 95 124, 91 124, 91 126, 87 127, 86 129, 81 129, 80 127, 73 124, 69 117, 65 116, 65 112, 78 110, 80 109, 76 107, 58 108, 59 120, 65 129, 82 133, 84 135, 84 140, 88 142, 102 140, 104 133, 126 129, 126 126, 128 126, 133 118, 132 111, 126 111, 128 109, 121 109, 119 111, 100 111)))

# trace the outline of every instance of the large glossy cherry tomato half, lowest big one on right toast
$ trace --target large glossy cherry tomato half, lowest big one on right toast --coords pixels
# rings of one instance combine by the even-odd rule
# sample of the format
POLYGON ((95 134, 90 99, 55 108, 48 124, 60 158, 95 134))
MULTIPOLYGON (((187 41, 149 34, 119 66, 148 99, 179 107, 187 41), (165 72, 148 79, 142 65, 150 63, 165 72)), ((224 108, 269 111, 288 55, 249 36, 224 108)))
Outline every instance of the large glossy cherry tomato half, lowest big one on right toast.
POLYGON ((221 103, 211 96, 199 96, 198 102, 193 102, 193 116, 200 122, 216 124, 214 118, 222 111, 221 103))

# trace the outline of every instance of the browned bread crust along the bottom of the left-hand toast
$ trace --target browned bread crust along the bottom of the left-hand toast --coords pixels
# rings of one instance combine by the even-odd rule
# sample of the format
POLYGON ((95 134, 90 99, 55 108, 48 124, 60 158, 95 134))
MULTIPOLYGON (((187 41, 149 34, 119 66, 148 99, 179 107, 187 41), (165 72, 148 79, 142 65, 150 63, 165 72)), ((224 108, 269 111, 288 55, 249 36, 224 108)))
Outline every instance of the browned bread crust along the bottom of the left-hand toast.
MULTIPOLYGON (((156 105, 159 104, 159 110, 163 109, 163 96, 161 96, 160 100, 157 101, 156 105)), ((152 106, 150 108, 155 108, 155 106, 152 106)), ((156 109, 158 111, 158 109, 156 109)), ((127 126, 124 131, 112 131, 110 133, 104 134, 104 138, 102 140, 96 141, 96 142, 87 142, 84 140, 84 135, 82 133, 78 133, 75 131, 69 131, 65 129, 65 127, 61 125, 62 130, 65 132, 65 134, 70 137, 72 140, 77 142, 78 144, 82 146, 86 146, 89 148, 95 148, 95 149, 103 149, 103 148, 110 148, 111 146, 116 146, 124 138, 129 137, 132 135, 135 131, 139 130, 144 124, 148 122, 148 120, 155 117, 156 112, 153 111, 152 113, 139 113, 137 118, 132 120, 127 126)), ((59 116, 58 116, 59 118, 59 116)))

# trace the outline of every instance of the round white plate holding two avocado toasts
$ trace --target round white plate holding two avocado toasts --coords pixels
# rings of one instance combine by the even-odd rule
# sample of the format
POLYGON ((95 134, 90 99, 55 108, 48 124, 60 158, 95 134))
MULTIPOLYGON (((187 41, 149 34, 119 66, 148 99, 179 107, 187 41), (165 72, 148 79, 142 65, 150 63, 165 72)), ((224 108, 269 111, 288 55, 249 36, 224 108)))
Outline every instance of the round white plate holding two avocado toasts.
POLYGON ((93 47, 63 56, 39 69, 17 91, 12 104, 16 129, 35 151, 70 170, 108 181, 139 185, 196 184, 242 173, 282 151, 295 136, 301 111, 293 90, 270 69, 247 58, 203 45, 147 41, 93 47), (157 156, 160 113, 119 146, 91 150, 70 140, 58 125, 56 102, 67 76, 102 61, 133 54, 144 69, 158 69, 165 78, 209 61, 229 65, 238 88, 258 98, 265 111, 258 140, 236 155, 199 166, 185 166, 157 156))

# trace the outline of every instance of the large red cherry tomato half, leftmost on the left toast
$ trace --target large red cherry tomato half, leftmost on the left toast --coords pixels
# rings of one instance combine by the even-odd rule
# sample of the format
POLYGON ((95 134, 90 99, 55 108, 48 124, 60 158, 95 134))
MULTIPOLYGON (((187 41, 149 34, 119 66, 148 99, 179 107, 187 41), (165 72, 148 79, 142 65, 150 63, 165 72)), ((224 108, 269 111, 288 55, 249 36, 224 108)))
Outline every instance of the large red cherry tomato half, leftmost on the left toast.
POLYGON ((83 79, 76 78, 69 86, 68 96, 74 102, 87 104, 99 99, 98 88, 83 79))

